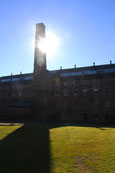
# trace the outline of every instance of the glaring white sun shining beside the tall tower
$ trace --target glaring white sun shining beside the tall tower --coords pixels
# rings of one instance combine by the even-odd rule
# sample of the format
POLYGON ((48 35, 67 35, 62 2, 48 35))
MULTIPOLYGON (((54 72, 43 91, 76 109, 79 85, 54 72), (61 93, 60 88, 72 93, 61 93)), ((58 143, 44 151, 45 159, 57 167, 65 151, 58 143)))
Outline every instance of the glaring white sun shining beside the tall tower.
POLYGON ((60 39, 53 32, 49 31, 46 33, 45 39, 40 39, 38 47, 42 52, 46 52, 47 56, 52 57, 56 54, 59 45, 60 39))

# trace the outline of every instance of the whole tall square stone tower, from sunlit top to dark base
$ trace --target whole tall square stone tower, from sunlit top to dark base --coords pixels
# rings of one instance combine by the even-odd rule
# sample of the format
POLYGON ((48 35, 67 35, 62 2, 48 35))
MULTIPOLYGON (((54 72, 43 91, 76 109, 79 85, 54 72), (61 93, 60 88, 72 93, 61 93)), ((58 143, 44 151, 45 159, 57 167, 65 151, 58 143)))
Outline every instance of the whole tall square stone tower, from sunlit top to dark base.
POLYGON ((46 114, 49 103, 49 75, 46 70, 46 52, 41 49, 45 42, 45 25, 36 24, 34 80, 33 80, 33 114, 38 119, 46 114), (42 44, 42 45, 41 45, 42 44), (45 112, 45 113, 44 113, 45 112))

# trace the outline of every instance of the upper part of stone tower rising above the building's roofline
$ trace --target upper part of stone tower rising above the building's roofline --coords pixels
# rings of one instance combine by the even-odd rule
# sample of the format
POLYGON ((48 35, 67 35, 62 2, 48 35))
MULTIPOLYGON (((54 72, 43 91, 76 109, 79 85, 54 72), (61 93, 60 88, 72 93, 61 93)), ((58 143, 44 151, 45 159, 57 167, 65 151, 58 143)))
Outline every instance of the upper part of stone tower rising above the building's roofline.
MULTIPOLYGON (((34 76, 38 77, 46 71, 46 52, 41 49, 41 44, 45 40, 45 25, 43 23, 36 24, 35 35, 35 54, 34 54, 34 76)), ((45 46, 45 45, 42 45, 45 46)))

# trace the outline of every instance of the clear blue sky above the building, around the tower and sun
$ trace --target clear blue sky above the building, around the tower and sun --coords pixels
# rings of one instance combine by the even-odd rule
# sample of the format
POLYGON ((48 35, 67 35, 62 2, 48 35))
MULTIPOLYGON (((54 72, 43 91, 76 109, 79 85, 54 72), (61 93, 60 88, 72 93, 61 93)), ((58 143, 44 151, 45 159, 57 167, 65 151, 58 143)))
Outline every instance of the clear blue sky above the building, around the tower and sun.
POLYGON ((60 38, 49 70, 115 63, 115 0, 0 0, 0 76, 33 72, 40 22, 60 38))

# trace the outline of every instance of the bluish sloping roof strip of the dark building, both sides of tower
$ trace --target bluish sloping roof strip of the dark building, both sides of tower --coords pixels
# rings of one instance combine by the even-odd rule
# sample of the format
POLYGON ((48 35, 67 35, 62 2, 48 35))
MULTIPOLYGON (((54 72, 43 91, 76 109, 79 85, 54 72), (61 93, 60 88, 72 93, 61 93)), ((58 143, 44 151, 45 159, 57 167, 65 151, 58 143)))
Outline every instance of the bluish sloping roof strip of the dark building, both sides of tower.
MULTIPOLYGON (((69 68, 49 71, 52 76, 69 77, 81 75, 94 75, 94 74, 115 74, 115 64, 106 64, 98 66, 87 66, 79 68, 69 68)), ((31 81, 34 78, 34 73, 17 74, 11 76, 0 77, 0 82, 18 82, 18 81, 31 81)))

